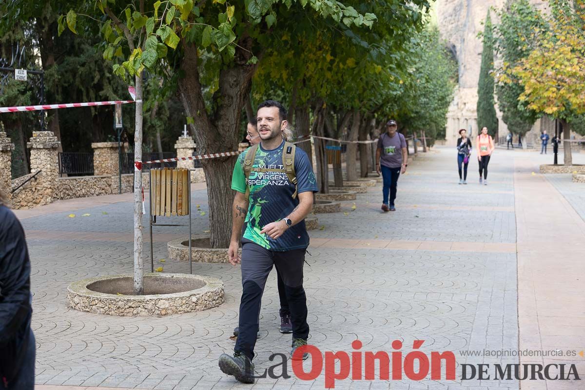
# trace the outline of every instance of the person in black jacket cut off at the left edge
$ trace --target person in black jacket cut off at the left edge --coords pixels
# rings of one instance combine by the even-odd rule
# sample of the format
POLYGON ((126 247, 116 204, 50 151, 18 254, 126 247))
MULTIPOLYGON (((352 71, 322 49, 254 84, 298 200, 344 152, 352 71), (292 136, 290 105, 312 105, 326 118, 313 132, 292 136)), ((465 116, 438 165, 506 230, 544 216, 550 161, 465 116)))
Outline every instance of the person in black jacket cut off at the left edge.
POLYGON ((0 187, 0 390, 35 387, 31 303, 25 232, 0 187))

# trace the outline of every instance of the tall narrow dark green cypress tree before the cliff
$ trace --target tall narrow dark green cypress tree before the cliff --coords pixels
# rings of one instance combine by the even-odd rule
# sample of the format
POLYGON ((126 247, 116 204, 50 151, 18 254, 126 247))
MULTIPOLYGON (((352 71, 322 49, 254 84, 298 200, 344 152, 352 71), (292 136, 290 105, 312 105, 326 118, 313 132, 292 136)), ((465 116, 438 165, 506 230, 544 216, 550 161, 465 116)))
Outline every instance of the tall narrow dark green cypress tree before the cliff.
POLYGON ((488 132, 495 138, 498 133, 498 117, 495 114, 494 101, 494 34, 490 11, 487 11, 486 26, 483 32, 483 50, 481 51, 481 68, 477 87, 477 126, 487 126, 488 132))

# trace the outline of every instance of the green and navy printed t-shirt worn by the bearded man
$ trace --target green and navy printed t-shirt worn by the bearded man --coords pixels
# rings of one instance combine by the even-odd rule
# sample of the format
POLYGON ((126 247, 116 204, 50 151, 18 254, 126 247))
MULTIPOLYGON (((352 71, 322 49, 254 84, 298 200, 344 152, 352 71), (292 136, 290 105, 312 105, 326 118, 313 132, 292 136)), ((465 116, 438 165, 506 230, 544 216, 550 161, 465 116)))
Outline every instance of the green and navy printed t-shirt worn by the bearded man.
MULTIPOLYGON (((283 169, 284 141, 276 149, 265 150, 261 144, 258 146, 254 157, 254 168, 283 169)), ((246 175, 244 173, 244 151, 238 157, 238 162, 233 168, 232 189, 238 192, 246 192, 246 175)), ((298 194, 301 192, 318 191, 315 174, 311 161, 302 149, 297 148, 294 158, 295 175, 297 177, 298 194)), ((242 243, 252 241, 269 250, 287 251, 292 249, 304 249, 309 246, 309 235, 305 227, 305 221, 291 226, 278 239, 273 240, 267 234, 261 234, 260 230, 271 222, 287 218, 298 205, 298 196, 292 198, 295 185, 288 181, 285 172, 250 172, 250 205, 246 215, 246 230, 242 243)))

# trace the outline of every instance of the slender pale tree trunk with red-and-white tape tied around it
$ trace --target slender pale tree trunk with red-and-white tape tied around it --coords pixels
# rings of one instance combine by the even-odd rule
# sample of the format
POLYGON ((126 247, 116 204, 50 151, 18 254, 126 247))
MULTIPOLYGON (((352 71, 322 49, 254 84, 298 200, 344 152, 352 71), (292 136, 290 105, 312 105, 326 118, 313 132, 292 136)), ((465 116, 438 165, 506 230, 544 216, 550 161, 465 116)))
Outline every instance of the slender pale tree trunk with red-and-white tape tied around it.
MULTIPOLYGON (((142 72, 136 75, 136 121, 134 131, 134 161, 142 165, 142 72)), ((136 164, 135 163, 135 164, 136 164)), ((134 170, 134 294, 142 295, 142 170, 134 170)))

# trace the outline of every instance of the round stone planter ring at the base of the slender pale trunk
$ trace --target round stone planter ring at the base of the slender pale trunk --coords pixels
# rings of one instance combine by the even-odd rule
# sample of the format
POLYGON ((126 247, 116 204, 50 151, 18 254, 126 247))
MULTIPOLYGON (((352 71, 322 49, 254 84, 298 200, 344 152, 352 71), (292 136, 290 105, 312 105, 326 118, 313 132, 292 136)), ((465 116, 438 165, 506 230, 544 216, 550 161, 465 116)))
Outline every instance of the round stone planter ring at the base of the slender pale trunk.
POLYGON ((187 274, 144 274, 144 295, 133 295, 133 275, 107 275, 73 282, 67 305, 80 312, 115 316, 164 316, 216 308, 223 282, 187 274))

